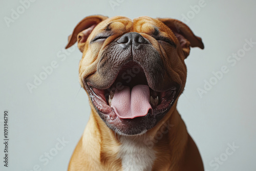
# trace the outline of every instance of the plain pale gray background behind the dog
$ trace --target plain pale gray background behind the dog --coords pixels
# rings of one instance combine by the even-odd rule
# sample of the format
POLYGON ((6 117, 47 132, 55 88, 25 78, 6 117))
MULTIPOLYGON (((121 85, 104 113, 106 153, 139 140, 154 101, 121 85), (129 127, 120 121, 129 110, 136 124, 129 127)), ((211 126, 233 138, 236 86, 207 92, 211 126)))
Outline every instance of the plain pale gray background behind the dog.
POLYGON ((188 78, 178 110, 200 149, 206 170, 255 170, 256 45, 235 65, 227 59, 232 53, 242 52, 245 39, 256 41, 256 1, 205 0, 206 6, 197 13, 191 12, 191 6, 199 2, 37 0, 8 27, 4 17, 11 18, 12 9, 17 11, 22 4, 18 0, 2 0, 0 137, 3 139, 3 113, 8 110, 10 158, 9 167, 4 167, 4 146, 0 143, 0 170, 28 171, 36 165, 41 170, 67 169, 90 107, 78 82, 81 53, 76 47, 71 53, 63 48, 75 25, 93 14, 180 20, 189 16, 189 22, 183 21, 202 37, 205 49, 191 49, 186 59, 188 78), (116 6, 112 8, 111 2, 116 6), (63 56, 64 52, 67 54, 63 56), (30 93, 27 83, 33 83, 34 75, 39 76, 44 72, 42 67, 50 66, 54 60, 58 67, 30 93), (228 73, 201 98, 197 89, 203 89, 204 80, 213 80, 212 72, 220 71, 222 66, 227 67, 228 73), (41 155, 56 152, 53 148, 58 138, 68 143, 49 163, 40 161, 41 155), (228 144, 237 146, 229 156, 228 144), (216 164, 220 157, 221 164, 216 164))

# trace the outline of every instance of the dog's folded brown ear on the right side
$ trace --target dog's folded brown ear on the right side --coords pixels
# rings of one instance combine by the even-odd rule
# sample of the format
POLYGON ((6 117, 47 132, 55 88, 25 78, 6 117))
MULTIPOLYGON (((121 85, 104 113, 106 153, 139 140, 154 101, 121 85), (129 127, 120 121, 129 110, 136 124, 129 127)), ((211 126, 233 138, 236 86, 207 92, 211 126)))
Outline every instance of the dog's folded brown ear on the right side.
POLYGON ((174 32, 175 36, 180 42, 185 58, 189 55, 190 47, 199 47, 201 49, 204 49, 202 39, 196 36, 186 24, 173 18, 157 19, 164 23, 167 27, 170 28, 170 30, 174 32))

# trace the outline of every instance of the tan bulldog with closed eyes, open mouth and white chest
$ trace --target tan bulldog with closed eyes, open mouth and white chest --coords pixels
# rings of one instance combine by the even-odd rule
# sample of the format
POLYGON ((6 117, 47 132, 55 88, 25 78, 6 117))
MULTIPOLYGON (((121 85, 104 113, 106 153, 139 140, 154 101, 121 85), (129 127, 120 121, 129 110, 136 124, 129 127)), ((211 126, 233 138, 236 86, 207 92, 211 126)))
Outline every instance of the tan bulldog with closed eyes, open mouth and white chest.
POLYGON ((202 39, 172 18, 92 15, 69 36, 91 115, 68 170, 202 171, 178 113, 190 47, 202 39))

